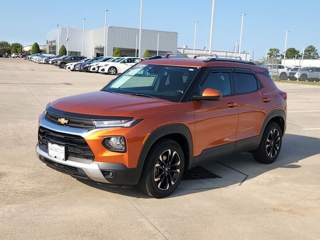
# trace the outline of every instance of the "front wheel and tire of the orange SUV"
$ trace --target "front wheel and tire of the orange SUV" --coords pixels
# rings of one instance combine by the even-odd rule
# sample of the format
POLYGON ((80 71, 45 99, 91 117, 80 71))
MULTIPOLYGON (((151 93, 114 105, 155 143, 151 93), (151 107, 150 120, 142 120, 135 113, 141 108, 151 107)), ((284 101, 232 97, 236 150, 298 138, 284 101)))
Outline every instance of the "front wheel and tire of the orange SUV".
POLYGON ((181 146, 174 140, 162 138, 154 143, 146 156, 138 187, 151 197, 168 196, 179 185, 183 170, 184 155, 181 146))

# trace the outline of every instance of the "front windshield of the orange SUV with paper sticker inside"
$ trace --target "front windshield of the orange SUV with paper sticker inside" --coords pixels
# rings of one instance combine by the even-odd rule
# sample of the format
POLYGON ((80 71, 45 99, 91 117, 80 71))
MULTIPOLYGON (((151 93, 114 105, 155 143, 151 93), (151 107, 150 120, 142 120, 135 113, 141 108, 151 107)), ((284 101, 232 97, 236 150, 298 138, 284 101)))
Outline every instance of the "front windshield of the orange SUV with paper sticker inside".
POLYGON ((197 71, 196 67, 137 64, 102 90, 178 102, 197 71))

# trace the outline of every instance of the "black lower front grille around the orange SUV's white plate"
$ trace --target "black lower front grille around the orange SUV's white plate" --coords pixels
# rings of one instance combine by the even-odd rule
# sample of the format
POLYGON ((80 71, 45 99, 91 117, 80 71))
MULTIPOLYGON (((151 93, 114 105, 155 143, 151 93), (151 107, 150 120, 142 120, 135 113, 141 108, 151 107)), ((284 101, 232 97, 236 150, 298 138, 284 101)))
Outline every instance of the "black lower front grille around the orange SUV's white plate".
POLYGON ((46 149, 46 151, 48 142, 64 146, 65 159, 67 159, 68 156, 90 160, 94 159, 93 152, 89 145, 83 137, 78 135, 57 132, 40 126, 38 130, 38 142, 39 146, 42 149, 46 149))

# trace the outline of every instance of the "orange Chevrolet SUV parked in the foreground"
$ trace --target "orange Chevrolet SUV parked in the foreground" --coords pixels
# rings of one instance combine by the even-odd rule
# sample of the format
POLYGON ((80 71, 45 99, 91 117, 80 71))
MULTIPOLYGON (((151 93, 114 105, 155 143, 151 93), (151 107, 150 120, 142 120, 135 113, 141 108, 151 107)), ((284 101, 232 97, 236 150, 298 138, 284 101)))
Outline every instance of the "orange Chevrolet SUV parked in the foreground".
POLYGON ((39 159, 74 177, 137 184, 152 197, 172 193, 184 170, 233 152, 273 162, 286 93, 268 70, 170 54, 141 61, 100 91, 50 102, 39 116, 39 159))

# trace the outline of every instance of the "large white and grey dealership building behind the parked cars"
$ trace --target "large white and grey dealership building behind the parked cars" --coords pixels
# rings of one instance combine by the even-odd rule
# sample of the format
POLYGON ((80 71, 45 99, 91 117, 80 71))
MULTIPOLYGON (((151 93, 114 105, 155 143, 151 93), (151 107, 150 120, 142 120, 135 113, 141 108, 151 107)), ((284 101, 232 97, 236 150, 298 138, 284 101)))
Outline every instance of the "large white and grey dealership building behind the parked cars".
MULTIPOLYGON (((139 29, 110 26, 106 27, 106 55, 112 56, 113 50, 119 47, 124 56, 135 56, 135 49, 139 45, 139 29)), ((177 49, 177 32, 142 29, 141 56, 148 49, 155 55, 157 48, 159 55, 177 49)), ((87 30, 75 27, 59 26, 46 33, 46 51, 57 54, 61 45, 67 48, 70 55, 84 55, 86 57, 102 56, 104 51, 104 26, 87 30), (83 41, 83 45, 82 45, 83 41), (82 52, 83 47, 83 52, 82 52)), ((138 55, 138 50, 137 50, 138 55)))

